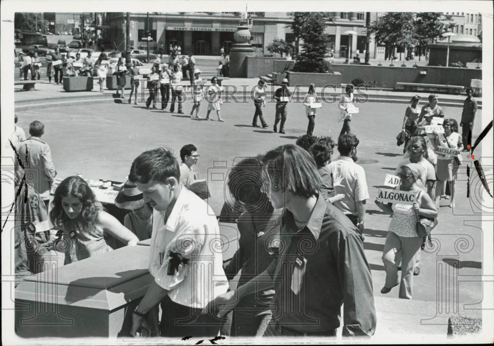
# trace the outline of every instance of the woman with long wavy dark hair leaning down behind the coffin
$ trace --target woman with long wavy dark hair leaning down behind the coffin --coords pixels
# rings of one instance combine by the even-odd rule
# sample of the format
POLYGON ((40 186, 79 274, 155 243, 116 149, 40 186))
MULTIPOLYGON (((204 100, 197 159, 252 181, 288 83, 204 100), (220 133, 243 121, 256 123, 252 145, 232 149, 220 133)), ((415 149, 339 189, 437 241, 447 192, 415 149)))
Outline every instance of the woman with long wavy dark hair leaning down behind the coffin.
POLYGON ((66 253, 65 264, 110 251, 105 233, 127 245, 139 241, 119 220, 103 211, 89 185, 79 176, 69 176, 57 186, 50 221, 65 236, 64 244, 55 246, 66 253))

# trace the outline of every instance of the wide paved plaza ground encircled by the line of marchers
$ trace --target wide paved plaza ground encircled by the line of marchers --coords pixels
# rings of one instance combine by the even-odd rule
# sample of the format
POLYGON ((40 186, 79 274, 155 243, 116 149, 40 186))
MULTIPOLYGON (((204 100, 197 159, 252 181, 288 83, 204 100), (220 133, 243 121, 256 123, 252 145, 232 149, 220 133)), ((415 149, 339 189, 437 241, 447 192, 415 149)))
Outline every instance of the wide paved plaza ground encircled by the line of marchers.
MULTIPOLYGON (((373 200, 377 188, 383 184, 385 174, 393 173, 401 159, 403 147, 396 146, 395 136, 401 127, 406 106, 367 103, 359 107, 361 112, 354 116, 351 125, 352 131, 360 138, 358 163, 366 170, 371 195, 367 204, 365 248, 372 269, 374 295, 381 295, 379 291, 384 282, 384 267, 380 258, 390 217, 383 215, 373 200)), ((200 112, 203 118, 206 109, 207 105, 203 102, 200 112)), ((201 178, 209 180, 212 195, 209 203, 216 213, 221 210, 225 193, 224 181, 211 180, 213 177, 218 180, 220 175, 216 173, 227 173, 225 167, 231 166, 236 157, 256 155, 281 144, 294 143, 307 127, 302 104, 289 105, 286 134, 272 132, 274 104, 268 104, 263 109, 270 125, 266 130, 251 127, 251 103, 223 104, 221 115, 225 119, 224 123, 191 120, 190 110, 190 103, 184 106, 185 114, 179 115, 159 109, 146 109, 143 103, 134 106, 107 102, 20 111, 17 114, 18 125, 26 132, 33 120, 45 124, 43 140, 51 146, 59 178, 82 173, 84 178, 124 181, 132 160, 142 151, 166 146, 178 157, 181 146, 193 143, 201 155, 195 171, 200 173, 201 178)), ((444 107, 444 111, 447 117, 453 117, 459 122, 460 108, 444 107)), ((478 113, 480 119, 482 111, 478 113)), ((329 135, 336 139, 341 128, 337 114, 336 104, 325 104, 318 110, 314 134, 329 135)), ((210 117, 216 119, 214 112, 211 112, 210 117)), ((474 133, 481 130, 480 121, 477 121, 474 133)), ((492 132, 484 141, 492 141, 492 132)), ((476 151, 479 154, 481 152, 479 149, 476 151)), ((333 157, 337 154, 335 148, 333 157)), ((467 162, 466 157, 464 159, 467 162)), ((492 168, 485 169, 486 175, 492 177, 492 168)), ((482 301, 480 278, 460 284, 452 281, 461 281, 469 275, 475 277, 482 273, 480 216, 472 212, 472 205, 477 206, 478 211, 481 203, 477 197, 481 183, 474 175, 471 181, 472 197, 470 200, 464 198, 466 173, 463 166, 456 186, 457 206, 453 210, 446 206, 440 208, 439 226, 434 230, 434 239, 438 242, 434 250, 439 252, 422 254, 422 272, 414 277, 414 300, 436 301, 439 294, 436 287, 442 287, 443 290, 457 288, 461 303, 476 304, 482 301), (453 265, 459 265, 459 269, 453 268, 453 265), (441 280, 441 285, 438 280, 441 280)), ((449 203, 442 200, 443 204, 446 202, 449 203)), ((397 296, 398 289, 386 295, 391 298, 397 296)))

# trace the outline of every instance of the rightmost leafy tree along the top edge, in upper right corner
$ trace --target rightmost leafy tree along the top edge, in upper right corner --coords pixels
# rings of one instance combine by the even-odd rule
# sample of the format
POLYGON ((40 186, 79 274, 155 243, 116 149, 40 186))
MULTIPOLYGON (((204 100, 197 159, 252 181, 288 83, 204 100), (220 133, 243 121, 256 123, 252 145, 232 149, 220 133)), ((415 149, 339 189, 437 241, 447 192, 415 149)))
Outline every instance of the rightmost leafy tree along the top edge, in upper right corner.
POLYGON ((429 43, 454 27, 450 15, 443 15, 440 12, 417 12, 415 15, 415 38, 420 50, 424 47, 427 49, 429 43))

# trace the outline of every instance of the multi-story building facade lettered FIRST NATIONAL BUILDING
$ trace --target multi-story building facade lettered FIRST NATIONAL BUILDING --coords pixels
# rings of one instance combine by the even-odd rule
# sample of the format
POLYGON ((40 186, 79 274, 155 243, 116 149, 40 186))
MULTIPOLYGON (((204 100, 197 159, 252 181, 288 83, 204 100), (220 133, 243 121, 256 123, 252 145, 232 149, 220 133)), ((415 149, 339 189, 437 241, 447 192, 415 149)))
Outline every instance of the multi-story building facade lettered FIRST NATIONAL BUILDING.
MULTIPOLYGON (((266 46, 275 38, 294 43, 295 38, 289 27, 292 23, 293 12, 249 12, 252 17, 251 43, 257 53, 268 53, 266 46)), ((367 28, 365 12, 332 12, 333 21, 329 22, 326 34, 329 38, 329 48, 334 50, 336 57, 346 57, 348 41, 351 41, 352 52, 365 50, 367 28), (355 31, 357 34, 344 34, 345 31, 355 31)), ((372 13, 375 19, 375 12, 372 13)), ((125 44, 125 13, 107 13, 107 23, 110 25, 110 41, 117 47, 125 44)), ((228 52, 235 40, 233 33, 241 19, 240 12, 150 12, 149 29, 146 13, 130 13, 130 44, 135 48, 147 46, 146 32, 153 39, 150 49, 156 49, 161 44, 165 46, 179 45, 182 52, 191 51, 195 55, 219 55, 223 47, 228 52)), ((371 45, 372 47, 372 45, 371 45)), ((371 54, 373 48, 370 49, 371 54)))

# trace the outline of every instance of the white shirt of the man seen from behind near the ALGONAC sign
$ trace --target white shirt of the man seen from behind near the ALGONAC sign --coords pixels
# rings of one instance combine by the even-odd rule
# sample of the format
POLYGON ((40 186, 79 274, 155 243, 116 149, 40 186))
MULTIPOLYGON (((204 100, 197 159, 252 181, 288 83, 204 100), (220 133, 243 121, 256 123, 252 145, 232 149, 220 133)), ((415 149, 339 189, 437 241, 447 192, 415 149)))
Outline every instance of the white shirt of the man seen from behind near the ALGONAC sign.
POLYGON ((338 156, 338 160, 328 165, 333 177, 334 194, 343 194, 345 197, 334 205, 344 214, 358 216, 355 202, 369 199, 366 172, 362 166, 357 165, 352 158, 338 156))

